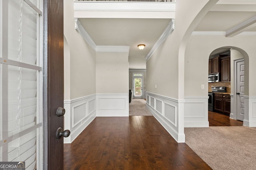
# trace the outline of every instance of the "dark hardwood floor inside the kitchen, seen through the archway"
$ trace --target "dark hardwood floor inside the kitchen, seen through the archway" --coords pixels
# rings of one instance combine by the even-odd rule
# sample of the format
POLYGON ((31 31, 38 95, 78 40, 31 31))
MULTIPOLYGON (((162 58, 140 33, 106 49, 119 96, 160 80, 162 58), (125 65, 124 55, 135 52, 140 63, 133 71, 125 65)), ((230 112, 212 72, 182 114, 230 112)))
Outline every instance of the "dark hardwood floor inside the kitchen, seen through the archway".
POLYGON ((243 122, 230 119, 229 116, 208 111, 209 126, 242 126, 243 122))

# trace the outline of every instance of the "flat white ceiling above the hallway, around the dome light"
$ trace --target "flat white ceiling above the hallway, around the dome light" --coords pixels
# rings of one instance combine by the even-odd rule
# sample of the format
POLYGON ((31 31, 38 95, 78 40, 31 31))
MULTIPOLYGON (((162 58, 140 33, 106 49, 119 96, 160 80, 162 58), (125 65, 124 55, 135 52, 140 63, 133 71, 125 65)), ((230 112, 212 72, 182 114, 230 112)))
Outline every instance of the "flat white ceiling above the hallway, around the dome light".
POLYGON ((130 46, 129 68, 146 69, 145 57, 170 19, 79 18, 96 45, 130 46), (145 44, 143 50, 137 45, 145 44))

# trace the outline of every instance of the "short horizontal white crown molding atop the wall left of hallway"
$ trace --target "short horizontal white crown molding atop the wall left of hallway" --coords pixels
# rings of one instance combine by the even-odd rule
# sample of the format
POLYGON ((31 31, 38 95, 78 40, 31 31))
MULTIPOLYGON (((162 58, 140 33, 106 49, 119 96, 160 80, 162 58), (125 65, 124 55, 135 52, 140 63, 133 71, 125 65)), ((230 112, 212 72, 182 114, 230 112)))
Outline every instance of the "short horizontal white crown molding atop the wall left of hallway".
POLYGON ((96 52, 129 53, 130 46, 96 45, 96 52))

